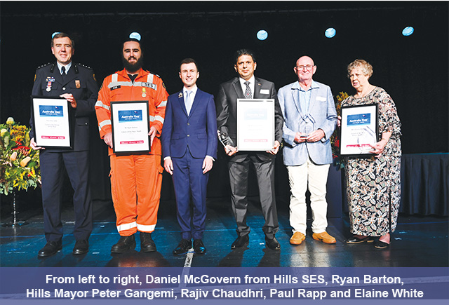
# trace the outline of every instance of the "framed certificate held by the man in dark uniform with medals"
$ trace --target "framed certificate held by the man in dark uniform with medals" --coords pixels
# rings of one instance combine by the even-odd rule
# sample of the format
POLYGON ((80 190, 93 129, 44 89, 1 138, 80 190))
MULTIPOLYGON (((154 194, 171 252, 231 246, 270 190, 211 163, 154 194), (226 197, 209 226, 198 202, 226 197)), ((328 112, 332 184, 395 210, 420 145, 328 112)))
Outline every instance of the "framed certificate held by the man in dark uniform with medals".
POLYGON ((73 149, 69 102, 61 97, 32 96, 34 141, 39 147, 73 149))

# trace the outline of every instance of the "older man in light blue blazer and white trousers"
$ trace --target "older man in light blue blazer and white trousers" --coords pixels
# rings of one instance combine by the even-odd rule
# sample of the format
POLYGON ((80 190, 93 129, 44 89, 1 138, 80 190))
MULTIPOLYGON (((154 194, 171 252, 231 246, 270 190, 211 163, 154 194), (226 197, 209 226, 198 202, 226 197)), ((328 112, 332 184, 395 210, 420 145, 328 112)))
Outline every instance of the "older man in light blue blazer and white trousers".
POLYGON ((330 136, 335 130, 337 113, 330 87, 313 81, 314 61, 308 56, 297 60, 293 68, 298 81, 279 89, 284 117, 283 163, 290 182, 290 225, 292 245, 305 240, 307 228, 306 191, 310 191, 313 222, 312 237, 323 243, 335 243, 326 232, 326 182, 332 150, 330 136))

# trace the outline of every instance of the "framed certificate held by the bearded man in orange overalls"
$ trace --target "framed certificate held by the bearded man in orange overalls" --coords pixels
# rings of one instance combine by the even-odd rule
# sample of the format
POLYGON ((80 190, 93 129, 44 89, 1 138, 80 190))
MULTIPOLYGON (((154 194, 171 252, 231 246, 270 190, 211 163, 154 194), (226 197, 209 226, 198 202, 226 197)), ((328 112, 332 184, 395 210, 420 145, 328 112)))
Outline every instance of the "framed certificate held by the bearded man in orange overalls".
POLYGON ((114 153, 148 152, 148 101, 111 102, 112 146, 114 153))

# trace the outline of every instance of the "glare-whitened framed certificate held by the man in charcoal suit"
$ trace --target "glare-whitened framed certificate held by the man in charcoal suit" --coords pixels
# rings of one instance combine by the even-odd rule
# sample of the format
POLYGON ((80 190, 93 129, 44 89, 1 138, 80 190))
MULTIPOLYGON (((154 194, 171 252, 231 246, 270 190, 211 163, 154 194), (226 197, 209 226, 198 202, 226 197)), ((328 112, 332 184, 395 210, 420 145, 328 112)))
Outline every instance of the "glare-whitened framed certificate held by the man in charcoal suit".
POLYGON ((237 149, 267 151, 274 147, 274 99, 237 100, 237 149))

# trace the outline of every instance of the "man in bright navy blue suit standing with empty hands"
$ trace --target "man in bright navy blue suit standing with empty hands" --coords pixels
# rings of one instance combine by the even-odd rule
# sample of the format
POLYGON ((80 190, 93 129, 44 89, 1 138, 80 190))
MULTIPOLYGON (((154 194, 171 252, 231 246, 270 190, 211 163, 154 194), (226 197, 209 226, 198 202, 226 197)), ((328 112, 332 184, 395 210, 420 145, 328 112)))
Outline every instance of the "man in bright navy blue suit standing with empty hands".
POLYGON ((168 97, 161 142, 163 165, 173 175, 177 221, 181 241, 174 255, 192 248, 206 253, 203 233, 206 223, 206 190, 209 171, 217 157, 217 121, 213 95, 196 86, 199 70, 195 60, 187 58, 180 65, 184 88, 168 97), (190 213, 192 197, 193 215, 190 213), (191 224, 192 222, 192 224, 191 224))

